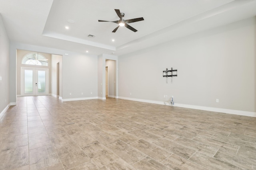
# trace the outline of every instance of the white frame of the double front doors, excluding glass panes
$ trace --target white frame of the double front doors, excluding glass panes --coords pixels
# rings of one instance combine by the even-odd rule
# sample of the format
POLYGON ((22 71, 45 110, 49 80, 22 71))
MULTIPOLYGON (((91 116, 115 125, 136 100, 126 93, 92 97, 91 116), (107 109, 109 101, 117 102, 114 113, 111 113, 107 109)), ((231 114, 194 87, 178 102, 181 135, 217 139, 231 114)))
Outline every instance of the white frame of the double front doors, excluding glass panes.
POLYGON ((49 95, 49 68, 34 68, 34 67, 20 67, 20 94, 21 96, 42 96, 49 95), (24 88, 24 71, 33 70, 33 93, 25 93, 24 88), (45 72, 45 93, 38 93, 38 76, 36 75, 37 71, 44 70, 45 72))

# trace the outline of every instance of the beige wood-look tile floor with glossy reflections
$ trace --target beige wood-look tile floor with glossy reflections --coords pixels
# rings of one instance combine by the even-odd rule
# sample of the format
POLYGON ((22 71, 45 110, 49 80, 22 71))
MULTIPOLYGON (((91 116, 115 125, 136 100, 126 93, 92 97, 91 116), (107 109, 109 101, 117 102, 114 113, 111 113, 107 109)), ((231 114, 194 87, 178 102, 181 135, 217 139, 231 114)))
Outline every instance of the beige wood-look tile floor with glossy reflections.
POLYGON ((129 100, 18 97, 0 170, 252 170, 256 117, 129 100))

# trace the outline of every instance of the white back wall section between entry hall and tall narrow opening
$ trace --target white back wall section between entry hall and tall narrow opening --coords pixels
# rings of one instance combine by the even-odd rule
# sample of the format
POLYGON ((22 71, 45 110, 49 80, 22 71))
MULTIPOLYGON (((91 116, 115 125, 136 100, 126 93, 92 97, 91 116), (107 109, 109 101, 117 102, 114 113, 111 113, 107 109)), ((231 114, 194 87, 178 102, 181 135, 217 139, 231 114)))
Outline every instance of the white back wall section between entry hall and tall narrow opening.
POLYGON ((97 98, 98 57, 76 54, 63 56, 62 61, 63 99, 97 98))

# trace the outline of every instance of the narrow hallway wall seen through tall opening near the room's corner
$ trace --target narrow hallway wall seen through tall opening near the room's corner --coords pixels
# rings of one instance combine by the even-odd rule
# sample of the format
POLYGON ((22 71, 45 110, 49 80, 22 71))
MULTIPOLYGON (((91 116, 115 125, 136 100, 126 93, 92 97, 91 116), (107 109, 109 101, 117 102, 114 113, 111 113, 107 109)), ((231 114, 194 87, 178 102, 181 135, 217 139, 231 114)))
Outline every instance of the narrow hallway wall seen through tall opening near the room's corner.
POLYGON ((116 61, 106 60, 108 66, 108 96, 116 97, 116 61))

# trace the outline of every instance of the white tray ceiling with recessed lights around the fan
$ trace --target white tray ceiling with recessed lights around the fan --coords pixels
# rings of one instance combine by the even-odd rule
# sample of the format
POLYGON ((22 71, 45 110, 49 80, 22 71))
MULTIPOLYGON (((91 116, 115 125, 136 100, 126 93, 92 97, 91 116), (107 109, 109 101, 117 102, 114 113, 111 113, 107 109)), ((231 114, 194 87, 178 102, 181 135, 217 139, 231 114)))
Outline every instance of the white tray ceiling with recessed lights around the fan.
POLYGON ((124 55, 256 16, 256 0, 0 0, 0 14, 12 42, 124 55), (114 9, 124 20, 143 17, 129 24, 138 31, 98 22, 119 20, 114 9))

